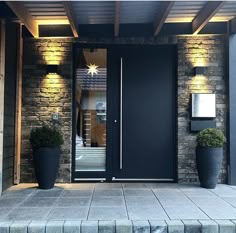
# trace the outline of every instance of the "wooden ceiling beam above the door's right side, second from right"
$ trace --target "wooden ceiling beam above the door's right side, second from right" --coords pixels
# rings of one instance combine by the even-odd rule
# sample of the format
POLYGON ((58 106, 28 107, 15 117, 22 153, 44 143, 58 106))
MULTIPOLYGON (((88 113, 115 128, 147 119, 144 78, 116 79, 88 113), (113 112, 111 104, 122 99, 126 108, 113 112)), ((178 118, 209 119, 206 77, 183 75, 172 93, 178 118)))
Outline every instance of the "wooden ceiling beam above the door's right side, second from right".
POLYGON ((154 36, 157 36, 161 31, 173 5, 173 1, 166 1, 160 3, 160 7, 158 8, 158 15, 154 20, 154 36))

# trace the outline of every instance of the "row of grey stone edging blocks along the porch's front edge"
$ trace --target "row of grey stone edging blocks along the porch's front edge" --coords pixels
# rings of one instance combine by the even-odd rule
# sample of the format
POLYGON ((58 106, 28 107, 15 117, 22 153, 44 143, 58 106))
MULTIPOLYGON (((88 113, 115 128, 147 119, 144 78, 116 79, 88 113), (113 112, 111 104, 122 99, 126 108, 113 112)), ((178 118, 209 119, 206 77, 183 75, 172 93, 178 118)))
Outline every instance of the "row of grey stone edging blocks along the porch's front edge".
POLYGON ((15 221, 0 222, 0 233, 235 233, 236 221, 15 221))

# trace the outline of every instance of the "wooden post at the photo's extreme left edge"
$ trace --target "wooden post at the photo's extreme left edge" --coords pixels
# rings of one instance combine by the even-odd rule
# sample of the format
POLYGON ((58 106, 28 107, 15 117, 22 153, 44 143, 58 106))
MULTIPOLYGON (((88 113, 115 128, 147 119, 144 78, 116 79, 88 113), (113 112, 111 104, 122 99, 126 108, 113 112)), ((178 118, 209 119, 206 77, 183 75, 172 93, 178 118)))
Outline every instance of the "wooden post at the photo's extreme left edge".
POLYGON ((5 20, 0 20, 0 195, 2 193, 3 169, 3 122, 5 85, 5 20))

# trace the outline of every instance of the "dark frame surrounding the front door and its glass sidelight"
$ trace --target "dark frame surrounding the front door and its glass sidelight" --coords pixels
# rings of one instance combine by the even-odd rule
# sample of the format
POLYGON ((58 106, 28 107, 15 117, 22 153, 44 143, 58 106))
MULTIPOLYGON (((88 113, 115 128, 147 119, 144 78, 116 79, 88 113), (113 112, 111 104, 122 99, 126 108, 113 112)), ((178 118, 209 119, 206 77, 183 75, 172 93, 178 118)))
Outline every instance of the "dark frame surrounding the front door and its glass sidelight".
MULTIPOLYGON (((72 44, 72 162, 71 162, 71 182, 92 182, 92 181, 107 181, 107 182, 119 182, 119 180, 113 180, 113 174, 112 174, 112 167, 113 167, 113 120, 116 119, 116 116, 114 116, 114 113, 112 111, 112 98, 108 98, 109 96, 112 96, 112 90, 114 87, 114 84, 112 83, 112 79, 109 78, 109 49, 111 48, 126 48, 126 47, 133 47, 133 48, 139 48, 139 47, 173 47, 174 49, 174 56, 173 56, 173 67, 174 67, 174 83, 173 90, 172 90, 172 98, 173 98, 173 127, 174 127, 174 134, 173 134, 173 141, 174 141, 174 174, 175 177, 173 181, 158 181, 158 182, 177 182, 178 181, 178 160, 177 160, 177 108, 178 108, 178 99, 177 99, 177 63, 178 63, 178 54, 177 54, 177 45, 176 44, 163 44, 163 45, 140 45, 140 44, 112 44, 112 43, 83 43, 83 42, 74 42, 72 44), (78 49, 83 48, 104 48, 107 49, 107 121, 106 121, 106 132, 107 132, 107 144, 106 144, 106 171, 104 172, 76 172, 75 171, 75 137, 76 137, 76 98, 75 98, 75 92, 76 92, 76 52, 78 49), (108 154, 110 156, 108 156, 108 154)), ((139 179, 140 181, 145 181, 142 179, 139 179)), ((138 181, 138 180, 134 180, 138 181)), ((148 180, 146 180, 148 182, 148 180)))

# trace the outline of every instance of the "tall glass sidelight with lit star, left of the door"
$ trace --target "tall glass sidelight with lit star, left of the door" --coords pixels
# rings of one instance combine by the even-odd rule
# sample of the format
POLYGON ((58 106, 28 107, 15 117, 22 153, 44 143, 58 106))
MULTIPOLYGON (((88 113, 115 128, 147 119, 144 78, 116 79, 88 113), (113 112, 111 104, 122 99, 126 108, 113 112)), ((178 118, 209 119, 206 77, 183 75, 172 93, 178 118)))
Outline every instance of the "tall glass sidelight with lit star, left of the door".
POLYGON ((81 49, 76 69, 76 171, 106 170, 107 50, 81 49))

